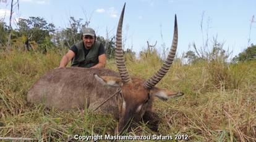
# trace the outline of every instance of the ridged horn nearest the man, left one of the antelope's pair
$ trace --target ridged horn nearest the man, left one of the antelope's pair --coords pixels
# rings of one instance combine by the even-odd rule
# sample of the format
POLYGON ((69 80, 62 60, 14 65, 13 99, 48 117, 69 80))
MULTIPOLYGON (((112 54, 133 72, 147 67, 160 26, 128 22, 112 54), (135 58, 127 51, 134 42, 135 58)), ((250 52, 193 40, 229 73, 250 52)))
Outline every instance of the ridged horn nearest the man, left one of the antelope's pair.
POLYGON ((122 79, 122 83, 131 82, 129 74, 126 69, 126 64, 124 63, 124 55, 122 53, 122 20, 124 18, 124 9, 126 7, 126 3, 124 3, 124 7, 122 8, 122 13, 119 18, 117 31, 116 31, 116 65, 119 71, 119 74, 122 79))

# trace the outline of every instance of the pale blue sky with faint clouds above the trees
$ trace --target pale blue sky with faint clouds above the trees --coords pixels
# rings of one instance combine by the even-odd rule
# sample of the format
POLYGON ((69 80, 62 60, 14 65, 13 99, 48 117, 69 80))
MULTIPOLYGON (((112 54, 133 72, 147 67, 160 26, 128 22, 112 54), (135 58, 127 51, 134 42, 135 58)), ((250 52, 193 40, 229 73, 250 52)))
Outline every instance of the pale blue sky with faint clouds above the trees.
MULTIPOLYGON (((0 1, 0 19, 9 25, 11 0, 0 1)), ((108 31, 113 36, 125 2, 124 48, 132 47, 136 53, 147 48, 147 41, 151 45, 157 41, 156 49, 160 53, 163 44, 171 47, 175 14, 179 56, 193 50, 193 43, 202 47, 207 37, 209 44, 217 37, 224 43, 223 49, 232 52, 231 57, 248 44, 256 44, 256 17, 253 18, 256 0, 19 0, 19 11, 16 7, 14 18, 43 17, 58 29, 69 26, 69 17, 83 18, 83 23, 90 21, 89 27, 97 35, 106 37, 108 31)))

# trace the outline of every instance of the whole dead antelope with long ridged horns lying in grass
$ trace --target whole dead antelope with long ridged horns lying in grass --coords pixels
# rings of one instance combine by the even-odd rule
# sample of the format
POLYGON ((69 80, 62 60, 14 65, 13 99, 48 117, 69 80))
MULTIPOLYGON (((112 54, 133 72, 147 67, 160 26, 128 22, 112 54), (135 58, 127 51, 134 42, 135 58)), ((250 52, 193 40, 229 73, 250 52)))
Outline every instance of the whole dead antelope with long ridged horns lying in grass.
POLYGON ((44 103, 48 108, 64 111, 88 108, 96 112, 113 114, 116 119, 119 119, 116 127, 116 132, 119 133, 130 128, 127 124, 131 121, 139 122, 144 117, 146 120, 153 120, 151 119, 153 97, 168 100, 182 96, 184 94, 182 92, 155 87, 168 72, 176 54, 178 39, 176 15, 173 43, 168 57, 153 76, 144 80, 139 77, 130 77, 124 63, 122 22, 125 6, 126 4, 122 8, 116 33, 115 58, 118 73, 108 68, 52 69, 41 76, 30 88, 27 100, 32 103, 44 103), (111 98, 113 94, 114 97, 111 98), (100 105, 102 106, 99 107, 100 105))

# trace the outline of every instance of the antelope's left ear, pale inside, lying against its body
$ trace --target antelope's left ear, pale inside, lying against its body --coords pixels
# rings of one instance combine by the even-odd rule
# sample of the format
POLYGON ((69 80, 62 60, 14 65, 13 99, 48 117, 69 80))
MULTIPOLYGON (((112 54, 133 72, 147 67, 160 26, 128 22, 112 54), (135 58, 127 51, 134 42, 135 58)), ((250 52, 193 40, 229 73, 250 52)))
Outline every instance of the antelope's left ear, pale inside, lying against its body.
POLYGON ((121 87, 122 80, 119 77, 113 76, 98 76, 98 74, 93 74, 95 79, 103 85, 108 85, 111 87, 121 87))

